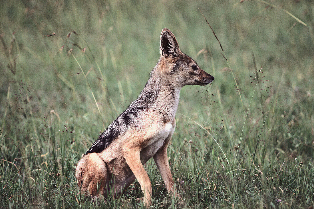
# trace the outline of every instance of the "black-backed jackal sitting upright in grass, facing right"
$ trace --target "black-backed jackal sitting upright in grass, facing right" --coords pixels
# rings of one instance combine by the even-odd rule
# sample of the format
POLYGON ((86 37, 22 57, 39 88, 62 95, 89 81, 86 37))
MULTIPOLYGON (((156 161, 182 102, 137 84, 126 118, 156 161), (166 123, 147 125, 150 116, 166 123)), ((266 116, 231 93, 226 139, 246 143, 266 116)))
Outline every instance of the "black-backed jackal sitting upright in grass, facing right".
POLYGON ((167 147, 176 127, 180 90, 185 85, 207 85, 214 77, 179 49, 176 37, 164 28, 160 58, 138 98, 119 115, 84 154, 76 166, 81 193, 114 196, 135 179, 151 204, 152 186, 143 165, 151 158, 167 191, 177 195, 169 168, 167 147))

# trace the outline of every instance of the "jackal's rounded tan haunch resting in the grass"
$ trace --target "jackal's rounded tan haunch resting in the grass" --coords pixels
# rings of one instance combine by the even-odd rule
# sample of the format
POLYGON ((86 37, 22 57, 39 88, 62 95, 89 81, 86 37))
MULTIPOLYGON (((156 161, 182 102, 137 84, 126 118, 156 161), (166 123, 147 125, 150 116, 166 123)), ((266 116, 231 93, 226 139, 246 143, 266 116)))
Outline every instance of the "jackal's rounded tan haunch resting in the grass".
POLYGON ((75 176, 82 194, 88 192, 93 199, 107 196, 107 166, 98 153, 84 155, 76 166, 75 176))

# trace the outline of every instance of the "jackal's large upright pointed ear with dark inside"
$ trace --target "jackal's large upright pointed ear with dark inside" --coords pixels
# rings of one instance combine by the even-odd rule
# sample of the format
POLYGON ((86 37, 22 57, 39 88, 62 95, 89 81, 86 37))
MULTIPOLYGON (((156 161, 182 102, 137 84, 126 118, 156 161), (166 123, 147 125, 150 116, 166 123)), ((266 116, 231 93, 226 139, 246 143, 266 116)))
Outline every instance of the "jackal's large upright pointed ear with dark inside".
POLYGON ((176 37, 168 28, 162 29, 160 35, 160 55, 162 57, 177 56, 179 52, 180 49, 176 37))

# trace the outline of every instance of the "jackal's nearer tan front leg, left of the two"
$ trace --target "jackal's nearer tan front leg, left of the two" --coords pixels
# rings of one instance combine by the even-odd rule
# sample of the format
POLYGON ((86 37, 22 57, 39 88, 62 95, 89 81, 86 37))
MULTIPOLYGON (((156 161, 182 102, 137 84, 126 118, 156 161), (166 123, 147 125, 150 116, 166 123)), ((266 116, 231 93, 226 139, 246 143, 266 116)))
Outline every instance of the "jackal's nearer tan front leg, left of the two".
POLYGON ((131 168, 144 193, 144 205, 152 203, 152 185, 140 159, 139 149, 122 149, 123 157, 131 168))

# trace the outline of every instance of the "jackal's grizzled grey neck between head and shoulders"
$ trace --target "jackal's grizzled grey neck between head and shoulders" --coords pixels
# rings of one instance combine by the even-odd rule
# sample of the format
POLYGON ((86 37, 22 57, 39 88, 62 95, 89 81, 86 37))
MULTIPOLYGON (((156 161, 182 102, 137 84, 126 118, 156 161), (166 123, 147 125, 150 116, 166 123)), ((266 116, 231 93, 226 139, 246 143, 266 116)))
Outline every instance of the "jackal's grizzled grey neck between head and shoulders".
POLYGON ((144 89, 130 106, 154 108, 165 121, 171 121, 178 108, 181 86, 161 73, 159 64, 151 71, 144 89))

